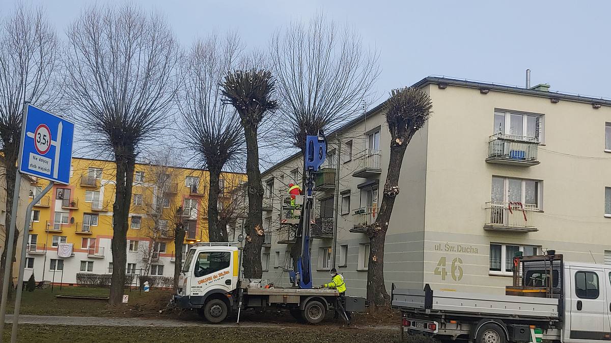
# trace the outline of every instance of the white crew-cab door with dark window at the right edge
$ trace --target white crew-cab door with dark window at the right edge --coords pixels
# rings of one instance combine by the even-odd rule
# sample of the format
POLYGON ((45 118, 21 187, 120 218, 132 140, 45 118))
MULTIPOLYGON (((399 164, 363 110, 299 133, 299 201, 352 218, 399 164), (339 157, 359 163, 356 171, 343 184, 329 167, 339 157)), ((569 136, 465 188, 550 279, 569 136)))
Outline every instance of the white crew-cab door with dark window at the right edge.
MULTIPOLYGON (((607 316, 606 284, 602 269, 571 268, 571 324, 566 342, 605 340, 607 316), (602 286, 602 287, 601 287, 602 286), (602 288, 602 290, 601 290, 602 288)), ((568 293, 568 292, 567 292, 568 293)), ((609 338, 607 338, 608 340, 609 338)))

